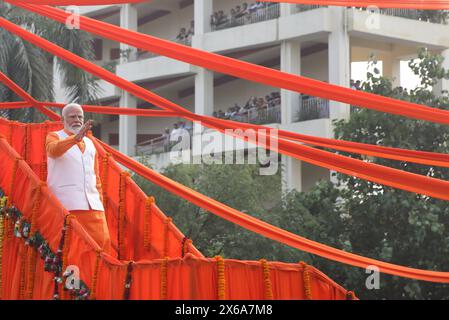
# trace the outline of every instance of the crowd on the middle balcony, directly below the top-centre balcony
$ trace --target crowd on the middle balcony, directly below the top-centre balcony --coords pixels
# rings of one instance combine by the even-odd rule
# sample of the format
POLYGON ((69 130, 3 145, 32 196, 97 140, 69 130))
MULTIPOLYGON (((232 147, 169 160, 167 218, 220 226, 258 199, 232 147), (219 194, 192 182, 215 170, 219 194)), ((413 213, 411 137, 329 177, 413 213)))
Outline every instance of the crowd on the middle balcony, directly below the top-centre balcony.
POLYGON ((251 112, 259 112, 262 110, 270 110, 281 104, 281 95, 279 92, 271 92, 264 98, 252 96, 245 105, 240 106, 237 103, 233 107, 228 108, 226 112, 223 110, 214 111, 213 116, 221 119, 229 119, 239 121, 243 116, 247 116, 251 112))

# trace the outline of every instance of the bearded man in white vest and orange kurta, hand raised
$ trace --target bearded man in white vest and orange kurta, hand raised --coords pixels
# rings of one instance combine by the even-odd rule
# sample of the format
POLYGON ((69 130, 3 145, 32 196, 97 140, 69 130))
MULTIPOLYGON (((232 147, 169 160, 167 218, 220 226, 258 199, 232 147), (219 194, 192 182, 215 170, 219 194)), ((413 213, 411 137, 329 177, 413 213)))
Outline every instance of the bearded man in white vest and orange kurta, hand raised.
POLYGON ((104 215, 98 155, 86 133, 92 120, 84 123, 79 104, 62 109, 64 129, 47 135, 47 184, 62 205, 106 252, 111 240, 104 215))

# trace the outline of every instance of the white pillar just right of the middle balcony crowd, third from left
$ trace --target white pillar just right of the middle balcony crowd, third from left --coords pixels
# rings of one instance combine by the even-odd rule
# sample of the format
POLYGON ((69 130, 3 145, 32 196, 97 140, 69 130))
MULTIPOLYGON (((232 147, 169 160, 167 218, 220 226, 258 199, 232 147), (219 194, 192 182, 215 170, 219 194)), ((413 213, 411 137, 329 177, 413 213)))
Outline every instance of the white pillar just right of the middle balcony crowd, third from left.
MULTIPOLYGON (((287 6, 286 4, 282 5, 287 6)), ((301 74, 301 44, 299 41, 283 41, 281 43, 281 70, 291 74, 301 74)), ((281 89, 282 125, 288 125, 296 120, 299 105, 297 92, 281 89)), ((282 191, 287 192, 293 189, 302 191, 302 163, 300 160, 282 155, 282 191)))

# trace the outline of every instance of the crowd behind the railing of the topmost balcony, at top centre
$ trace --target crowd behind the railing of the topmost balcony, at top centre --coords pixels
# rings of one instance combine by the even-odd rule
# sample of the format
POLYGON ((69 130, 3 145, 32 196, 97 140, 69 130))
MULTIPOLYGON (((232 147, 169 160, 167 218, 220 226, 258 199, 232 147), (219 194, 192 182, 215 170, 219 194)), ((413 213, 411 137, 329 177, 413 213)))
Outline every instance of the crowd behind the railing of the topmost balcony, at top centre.
POLYGON ((237 21, 244 23, 245 18, 249 20, 251 15, 257 14, 260 11, 265 11, 266 8, 274 5, 278 6, 279 4, 275 2, 262 1, 256 1, 251 4, 244 2, 242 5, 237 5, 236 7, 232 8, 229 13, 224 13, 223 10, 216 11, 211 16, 211 26, 213 29, 219 29, 223 26, 234 26, 236 24, 239 24, 236 23, 237 21))

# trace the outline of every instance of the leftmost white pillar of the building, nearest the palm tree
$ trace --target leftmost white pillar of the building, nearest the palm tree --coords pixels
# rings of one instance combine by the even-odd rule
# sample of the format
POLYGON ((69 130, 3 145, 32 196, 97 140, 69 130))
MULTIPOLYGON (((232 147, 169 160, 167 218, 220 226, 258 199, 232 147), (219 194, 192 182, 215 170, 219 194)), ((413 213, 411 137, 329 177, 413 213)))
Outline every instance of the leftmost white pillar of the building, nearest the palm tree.
MULTIPOLYGON (((120 9, 120 26, 137 31, 137 10, 130 4, 122 5, 120 9)), ((136 49, 126 44, 120 44, 121 50, 131 49, 129 60, 135 58, 136 49)), ((127 57, 121 57, 120 63, 127 62, 127 57)), ((128 92, 122 91, 120 107, 137 108, 137 99, 128 92)), ((137 118, 120 116, 119 118, 119 150, 129 156, 136 154, 137 118)))

